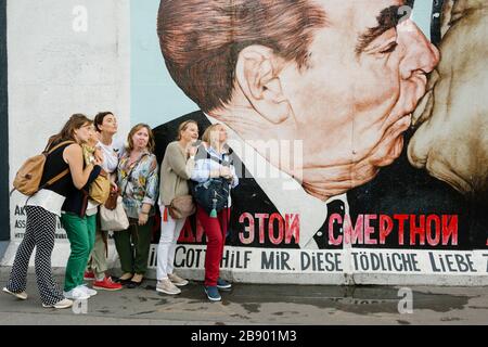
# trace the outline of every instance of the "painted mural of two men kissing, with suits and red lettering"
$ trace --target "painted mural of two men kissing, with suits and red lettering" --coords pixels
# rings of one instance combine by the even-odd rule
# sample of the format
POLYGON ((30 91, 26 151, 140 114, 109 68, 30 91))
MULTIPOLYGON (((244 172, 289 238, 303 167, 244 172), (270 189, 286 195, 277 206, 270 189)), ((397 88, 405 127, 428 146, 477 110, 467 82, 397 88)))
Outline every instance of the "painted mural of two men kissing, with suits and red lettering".
MULTIPOLYGON (((157 127, 156 153, 187 119, 228 128, 227 244, 486 249, 488 4, 444 1, 438 48, 404 5, 160 1, 166 66, 201 110, 157 127)), ((180 242, 205 242, 194 217, 180 242)))

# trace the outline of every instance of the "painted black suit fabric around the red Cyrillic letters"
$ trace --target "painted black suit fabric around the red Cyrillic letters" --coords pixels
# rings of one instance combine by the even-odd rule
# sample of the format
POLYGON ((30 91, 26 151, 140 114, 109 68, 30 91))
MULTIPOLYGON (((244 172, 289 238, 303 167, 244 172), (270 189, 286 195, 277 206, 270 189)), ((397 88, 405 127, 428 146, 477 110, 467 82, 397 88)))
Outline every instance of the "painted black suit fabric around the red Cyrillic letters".
MULTIPOLYGON (((184 115, 175 120, 166 123, 153 129, 156 140, 156 155, 160 163, 166 146, 175 140, 178 126, 185 120, 193 119, 198 124, 200 132, 210 125, 207 117, 200 111, 184 115)), ((406 134, 406 143, 411 133, 406 134)), ((406 146, 407 147, 407 146, 406 146)), ((292 240, 286 244, 284 241, 279 244, 272 244, 266 232, 265 243, 259 243, 259 237, 255 237, 254 242, 243 245, 240 242, 239 234, 246 233, 246 223, 240 223, 239 217, 243 213, 255 214, 279 214, 273 203, 262 191, 254 178, 251 178, 248 171, 245 171, 244 165, 236 155, 233 155, 234 166, 242 165, 242 172, 246 172, 245 178, 240 178, 240 184, 233 191, 232 195, 232 213, 230 219, 230 232, 228 233, 227 243, 235 246, 252 247, 279 247, 279 248, 299 248, 298 244, 292 240)), ((398 226, 395 224, 394 230, 388 235, 385 245, 361 245, 361 247, 374 248, 431 248, 431 249, 473 249, 486 248, 488 218, 483 216, 481 209, 484 204, 468 202, 461 194, 451 189, 448 184, 432 178, 423 170, 413 168, 407 159, 403 151, 402 155, 389 167, 383 168, 378 176, 371 182, 350 190, 347 193, 349 203, 349 213, 352 221, 357 216, 362 214, 378 215, 384 214, 393 216, 395 214, 402 215, 458 215, 459 217, 459 242, 458 246, 438 245, 429 246, 420 245, 419 239, 415 244, 410 245, 410 227, 404 226, 404 243, 398 244, 398 226)), ((488 215, 488 214, 486 214, 488 215)), ((324 221, 325 221, 324 216, 324 221)), ((195 230, 195 217, 189 220, 190 226, 195 230)), ((256 221, 257 222, 257 221, 256 221)), ((374 222, 371 223, 374 226, 374 222)), ((259 227, 255 226, 257 230, 259 227)), ((277 228, 277 226, 274 226, 277 228)), ((268 230, 268 224, 266 226, 268 230)), ((325 230, 323 226, 321 231, 325 230)), ((377 230, 377 229, 376 229, 377 230)), ((328 232, 325 231, 324 234, 328 232)), ((320 248, 337 248, 342 246, 329 245, 328 242, 319 244, 320 248)))

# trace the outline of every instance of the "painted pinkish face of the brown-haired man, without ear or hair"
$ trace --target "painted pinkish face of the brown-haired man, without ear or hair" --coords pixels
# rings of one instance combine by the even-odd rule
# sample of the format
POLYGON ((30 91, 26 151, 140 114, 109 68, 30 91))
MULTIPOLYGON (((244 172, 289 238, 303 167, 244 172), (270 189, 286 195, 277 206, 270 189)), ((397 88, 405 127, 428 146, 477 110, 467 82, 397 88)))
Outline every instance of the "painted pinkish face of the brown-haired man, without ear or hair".
POLYGON ((439 53, 400 0, 316 0, 328 24, 316 31, 308 66, 280 73, 304 141, 303 184, 321 198, 374 178, 402 150, 402 132, 425 93, 439 53))

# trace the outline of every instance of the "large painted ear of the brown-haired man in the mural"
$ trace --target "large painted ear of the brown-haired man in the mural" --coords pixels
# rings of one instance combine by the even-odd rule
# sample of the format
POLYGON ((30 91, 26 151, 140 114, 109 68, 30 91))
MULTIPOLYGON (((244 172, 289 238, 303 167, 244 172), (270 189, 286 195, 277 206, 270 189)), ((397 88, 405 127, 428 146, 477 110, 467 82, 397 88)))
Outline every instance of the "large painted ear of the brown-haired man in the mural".
POLYGON ((267 47, 246 47, 237 59, 235 75, 242 92, 253 107, 272 124, 285 121, 291 115, 278 77, 280 59, 267 47))

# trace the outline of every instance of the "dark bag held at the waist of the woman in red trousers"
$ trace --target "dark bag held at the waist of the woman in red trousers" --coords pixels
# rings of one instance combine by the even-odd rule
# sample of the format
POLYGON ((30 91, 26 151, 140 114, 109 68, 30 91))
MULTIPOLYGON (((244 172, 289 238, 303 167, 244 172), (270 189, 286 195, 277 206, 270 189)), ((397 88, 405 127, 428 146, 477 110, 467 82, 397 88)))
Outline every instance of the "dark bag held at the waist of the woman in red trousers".
MULTIPOLYGON (((222 160, 211 157, 206 150, 205 152, 208 159, 222 164, 222 160)), ((200 157, 202 157, 202 155, 200 155, 200 157)), ((232 163, 229 163, 229 165, 232 165, 232 163)), ((210 178, 203 183, 190 181, 189 185, 195 202, 202 206, 211 218, 216 218, 217 214, 227 207, 231 188, 229 181, 224 178, 210 178)))

